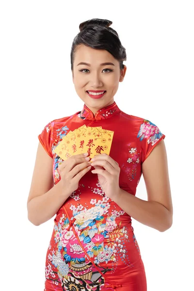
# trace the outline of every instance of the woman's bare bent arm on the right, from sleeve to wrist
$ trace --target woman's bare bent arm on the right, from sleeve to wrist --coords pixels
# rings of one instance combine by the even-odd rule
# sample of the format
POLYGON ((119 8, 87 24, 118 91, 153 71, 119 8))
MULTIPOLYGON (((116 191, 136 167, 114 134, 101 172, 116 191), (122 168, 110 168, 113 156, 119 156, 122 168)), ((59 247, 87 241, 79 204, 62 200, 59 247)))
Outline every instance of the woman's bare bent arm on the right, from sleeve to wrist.
POLYGON ((126 213, 146 226, 165 231, 173 223, 173 205, 167 155, 162 140, 142 164, 147 201, 120 189, 113 200, 126 213))

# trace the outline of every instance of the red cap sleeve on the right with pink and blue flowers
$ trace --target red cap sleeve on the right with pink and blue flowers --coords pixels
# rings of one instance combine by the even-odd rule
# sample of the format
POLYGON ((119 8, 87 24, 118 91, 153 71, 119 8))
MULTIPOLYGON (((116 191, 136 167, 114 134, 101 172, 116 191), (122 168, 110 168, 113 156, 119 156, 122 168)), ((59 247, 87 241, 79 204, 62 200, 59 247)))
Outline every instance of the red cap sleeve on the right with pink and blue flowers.
POLYGON ((157 146, 165 135, 149 120, 144 119, 137 134, 141 145, 141 163, 145 162, 151 151, 157 146))

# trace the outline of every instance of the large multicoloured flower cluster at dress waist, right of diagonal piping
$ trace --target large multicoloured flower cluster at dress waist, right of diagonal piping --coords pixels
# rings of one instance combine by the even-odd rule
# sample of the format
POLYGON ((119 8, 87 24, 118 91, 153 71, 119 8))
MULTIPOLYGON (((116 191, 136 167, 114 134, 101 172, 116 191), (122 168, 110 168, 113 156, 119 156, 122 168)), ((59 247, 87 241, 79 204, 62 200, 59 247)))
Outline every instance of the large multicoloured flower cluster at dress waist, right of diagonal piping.
POLYGON ((70 250, 65 248, 65 258, 70 260, 71 258, 68 257, 70 252, 76 253, 77 251, 81 255, 81 249, 85 249, 88 256, 94 258, 95 264, 112 262, 112 272, 118 264, 119 257, 123 259, 124 264, 133 267, 125 247, 125 240, 129 242, 127 228, 125 229, 125 226, 121 228, 121 222, 119 224, 116 222, 116 219, 125 212, 123 210, 109 211, 113 201, 104 194, 99 182, 96 185, 97 188, 91 187, 91 191, 101 198, 91 198, 92 207, 90 209, 83 207, 77 199, 74 199, 78 196, 76 191, 71 194, 71 198, 78 201, 78 206, 75 205, 75 202, 70 203, 69 209, 72 210, 71 221, 74 221, 73 225, 76 227, 76 231, 79 231, 82 248, 78 247, 78 242, 74 242, 70 250))

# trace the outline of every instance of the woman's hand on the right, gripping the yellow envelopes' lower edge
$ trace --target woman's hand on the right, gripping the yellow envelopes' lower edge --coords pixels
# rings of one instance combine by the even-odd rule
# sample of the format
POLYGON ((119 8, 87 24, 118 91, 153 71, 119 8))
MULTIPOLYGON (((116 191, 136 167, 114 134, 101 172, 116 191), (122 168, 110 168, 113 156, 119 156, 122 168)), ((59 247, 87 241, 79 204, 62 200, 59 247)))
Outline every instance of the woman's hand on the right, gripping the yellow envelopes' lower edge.
POLYGON ((92 170, 92 173, 97 174, 98 181, 104 193, 114 200, 114 197, 120 191, 120 167, 118 163, 107 154, 96 155, 90 162, 92 162, 91 166, 95 168, 95 170, 92 170))

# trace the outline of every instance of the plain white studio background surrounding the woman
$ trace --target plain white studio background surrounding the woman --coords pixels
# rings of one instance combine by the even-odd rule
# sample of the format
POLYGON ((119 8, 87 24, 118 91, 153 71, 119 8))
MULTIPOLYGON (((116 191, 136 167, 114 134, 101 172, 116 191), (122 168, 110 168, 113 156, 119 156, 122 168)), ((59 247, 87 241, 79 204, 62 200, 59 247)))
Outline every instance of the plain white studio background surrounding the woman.
MULTIPOLYGON (((159 232, 134 219, 132 224, 147 290, 194 290, 192 5, 187 0, 1 1, 0 290, 44 290, 53 219, 34 226, 26 206, 37 136, 49 121, 82 110, 71 79, 70 49, 79 24, 91 18, 113 21, 127 50, 117 105, 166 135, 173 226, 159 232)), ((136 196, 147 199, 143 177, 136 196)))

